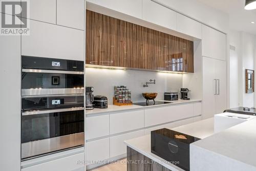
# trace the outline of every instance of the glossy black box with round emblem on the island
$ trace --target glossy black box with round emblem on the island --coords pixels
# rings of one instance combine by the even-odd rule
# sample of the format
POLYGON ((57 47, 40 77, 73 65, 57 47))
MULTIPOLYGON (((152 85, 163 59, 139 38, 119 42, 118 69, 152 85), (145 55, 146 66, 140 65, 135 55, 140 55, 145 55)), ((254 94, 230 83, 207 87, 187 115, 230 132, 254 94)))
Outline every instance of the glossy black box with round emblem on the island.
POLYGON ((151 153, 189 170, 189 144, 200 140, 173 130, 160 129, 151 132, 151 153))

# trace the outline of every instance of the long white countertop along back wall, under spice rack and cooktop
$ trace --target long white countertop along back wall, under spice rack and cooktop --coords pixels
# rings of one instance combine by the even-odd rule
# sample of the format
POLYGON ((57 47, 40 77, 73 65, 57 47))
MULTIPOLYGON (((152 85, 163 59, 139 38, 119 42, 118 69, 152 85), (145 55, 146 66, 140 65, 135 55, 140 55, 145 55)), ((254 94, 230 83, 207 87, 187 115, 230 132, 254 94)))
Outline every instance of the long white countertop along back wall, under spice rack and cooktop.
POLYGON ((150 105, 150 106, 140 106, 140 105, 117 106, 117 105, 110 104, 110 105, 108 105, 107 109, 97 109, 97 108, 95 108, 93 110, 86 110, 86 115, 110 113, 110 112, 119 112, 119 111, 129 111, 129 110, 145 109, 145 108, 158 108, 158 107, 161 107, 161 106, 191 103, 191 102, 197 102, 197 101, 202 101, 202 100, 198 100, 198 99, 181 100, 181 99, 179 99, 179 100, 175 100, 175 101, 166 101, 166 100, 157 100, 157 101, 172 102, 172 103, 150 105))

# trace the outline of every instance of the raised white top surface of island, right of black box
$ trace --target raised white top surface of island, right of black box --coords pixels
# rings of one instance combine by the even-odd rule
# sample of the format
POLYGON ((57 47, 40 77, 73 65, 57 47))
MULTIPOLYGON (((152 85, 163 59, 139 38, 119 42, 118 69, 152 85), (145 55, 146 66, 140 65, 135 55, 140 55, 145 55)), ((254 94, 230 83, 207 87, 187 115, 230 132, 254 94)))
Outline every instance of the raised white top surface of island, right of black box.
POLYGON ((256 170, 256 118, 194 142, 194 145, 254 166, 256 170))

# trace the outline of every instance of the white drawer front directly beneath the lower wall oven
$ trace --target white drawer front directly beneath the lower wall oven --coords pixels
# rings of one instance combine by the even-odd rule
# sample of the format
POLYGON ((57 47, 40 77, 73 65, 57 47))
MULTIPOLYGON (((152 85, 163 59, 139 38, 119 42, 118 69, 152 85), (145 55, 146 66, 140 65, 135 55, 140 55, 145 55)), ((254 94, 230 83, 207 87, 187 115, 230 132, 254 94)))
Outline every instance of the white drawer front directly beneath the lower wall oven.
POLYGON ((84 167, 84 164, 77 164, 77 161, 84 161, 84 153, 52 160, 46 163, 37 164, 31 167, 23 168, 22 171, 45 171, 45 170, 61 170, 70 171, 84 167))

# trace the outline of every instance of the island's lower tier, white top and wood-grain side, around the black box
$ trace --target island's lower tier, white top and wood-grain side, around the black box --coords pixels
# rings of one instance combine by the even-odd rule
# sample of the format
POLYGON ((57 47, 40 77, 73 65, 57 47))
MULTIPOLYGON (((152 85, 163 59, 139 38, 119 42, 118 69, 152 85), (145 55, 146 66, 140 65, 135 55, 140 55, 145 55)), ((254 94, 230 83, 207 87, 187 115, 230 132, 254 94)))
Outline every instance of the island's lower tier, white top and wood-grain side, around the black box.
MULTIPOLYGON (((168 127, 166 128, 168 129, 168 127)), ((214 134, 214 118, 205 119, 170 129, 203 139, 214 134)), ((142 159, 146 161, 153 161, 153 163, 150 164, 150 166, 148 166, 148 164, 136 165, 133 164, 133 162, 131 162, 131 164, 127 165, 127 171, 143 170, 141 169, 143 167, 158 168, 156 170, 183 170, 176 166, 175 164, 169 163, 166 160, 162 159, 161 157, 151 153, 151 135, 126 140, 124 141, 124 143, 127 145, 127 161, 138 161, 142 159)))

